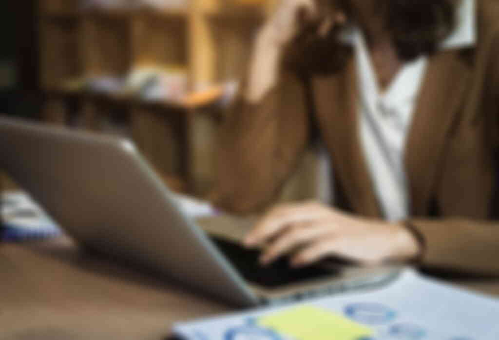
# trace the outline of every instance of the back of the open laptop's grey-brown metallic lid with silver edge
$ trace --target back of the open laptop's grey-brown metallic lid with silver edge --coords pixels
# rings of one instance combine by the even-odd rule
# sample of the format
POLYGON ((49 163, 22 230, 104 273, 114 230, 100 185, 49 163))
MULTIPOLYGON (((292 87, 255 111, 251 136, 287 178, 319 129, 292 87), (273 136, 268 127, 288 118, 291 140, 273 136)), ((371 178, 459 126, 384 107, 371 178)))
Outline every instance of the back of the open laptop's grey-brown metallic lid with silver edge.
POLYGON ((258 303, 130 141, 0 118, 0 168, 83 245, 232 304, 258 303))

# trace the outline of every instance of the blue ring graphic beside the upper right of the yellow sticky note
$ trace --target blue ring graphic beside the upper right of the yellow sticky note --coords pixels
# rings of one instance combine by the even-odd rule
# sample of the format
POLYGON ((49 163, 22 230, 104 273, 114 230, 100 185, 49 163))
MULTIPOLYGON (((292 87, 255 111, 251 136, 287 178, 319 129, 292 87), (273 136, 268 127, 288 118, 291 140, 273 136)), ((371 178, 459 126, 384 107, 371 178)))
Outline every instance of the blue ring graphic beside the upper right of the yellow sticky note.
POLYGON ((368 325, 386 324, 397 315, 391 308, 377 303, 351 304, 345 307, 344 313, 348 318, 368 325))

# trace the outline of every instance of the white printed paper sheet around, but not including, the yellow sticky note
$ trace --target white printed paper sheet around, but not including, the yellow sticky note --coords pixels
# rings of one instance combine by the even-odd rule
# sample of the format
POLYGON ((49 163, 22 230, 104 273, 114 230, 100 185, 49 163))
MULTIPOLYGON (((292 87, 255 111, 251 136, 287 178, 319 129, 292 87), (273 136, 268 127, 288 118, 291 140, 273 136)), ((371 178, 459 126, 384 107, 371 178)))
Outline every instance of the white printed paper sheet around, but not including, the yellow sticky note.
POLYGON ((298 305, 323 308, 375 330, 374 337, 363 340, 499 339, 498 299, 422 277, 412 269, 374 291, 177 324, 174 333, 188 340, 287 340, 258 330, 252 320, 298 305))

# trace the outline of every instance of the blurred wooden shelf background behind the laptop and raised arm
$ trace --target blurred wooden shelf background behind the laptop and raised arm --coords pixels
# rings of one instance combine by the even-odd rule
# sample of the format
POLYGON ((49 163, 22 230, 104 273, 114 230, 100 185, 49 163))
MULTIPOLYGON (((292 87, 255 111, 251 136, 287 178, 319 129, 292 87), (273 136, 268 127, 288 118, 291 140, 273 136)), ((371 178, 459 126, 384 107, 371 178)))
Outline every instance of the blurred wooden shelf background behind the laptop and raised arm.
POLYGON ((223 108, 272 6, 1 1, 0 112, 131 138, 170 187, 203 196, 223 108))

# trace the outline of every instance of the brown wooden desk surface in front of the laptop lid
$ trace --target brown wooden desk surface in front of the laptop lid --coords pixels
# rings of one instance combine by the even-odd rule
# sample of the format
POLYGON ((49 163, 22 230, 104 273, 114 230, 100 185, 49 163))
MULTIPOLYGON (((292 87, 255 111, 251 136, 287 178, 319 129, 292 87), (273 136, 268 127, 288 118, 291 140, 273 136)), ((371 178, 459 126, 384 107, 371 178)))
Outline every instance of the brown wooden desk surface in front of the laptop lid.
MULTIPOLYGON (((228 312, 68 239, 0 244, 0 340, 164 340, 173 323, 228 312)), ((499 280, 455 283, 499 296, 499 280)))

